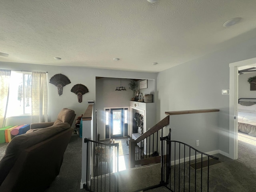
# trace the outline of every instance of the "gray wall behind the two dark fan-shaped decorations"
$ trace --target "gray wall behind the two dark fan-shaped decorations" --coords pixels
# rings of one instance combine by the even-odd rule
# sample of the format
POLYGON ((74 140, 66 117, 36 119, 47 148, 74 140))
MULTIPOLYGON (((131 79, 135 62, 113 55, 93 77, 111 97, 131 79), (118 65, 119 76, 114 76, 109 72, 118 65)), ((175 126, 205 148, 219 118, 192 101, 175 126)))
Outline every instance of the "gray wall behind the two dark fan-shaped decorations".
MULTIPOLYGON (((44 71, 48 72, 48 82, 52 76, 61 73, 66 75, 71 83, 64 86, 63 94, 58 95, 57 87, 48 83, 48 121, 55 121, 58 113, 64 107, 73 109, 77 116, 84 114, 88 103, 87 100, 96 101, 96 76, 100 77, 114 77, 114 78, 134 78, 134 79, 155 79, 156 73, 143 73, 143 72, 130 72, 130 71, 118 71, 118 70, 102 70, 83 67, 68 67, 68 66, 50 66, 50 65, 38 65, 38 64, 23 64, 23 63, 11 63, 0 62, 1 69, 10 70, 28 70, 28 71, 44 71), (76 94, 70 90, 75 84, 84 84, 89 92, 83 95, 82 102, 79 103, 76 94)), ((116 86, 116 85, 115 85, 116 86)), ((95 117, 95 115, 94 115, 95 117)), ((14 120, 14 119, 12 119, 14 120)), ((21 119, 20 119, 21 120, 21 119)), ((21 124, 24 121, 21 120, 21 124)), ((30 124, 31 122, 27 122, 30 124)), ((12 124, 12 122, 10 122, 12 124)), ((18 121, 15 120, 15 124, 18 121)), ((74 124, 73 124, 74 125, 74 124)), ((94 125, 95 126, 95 125, 94 125)))

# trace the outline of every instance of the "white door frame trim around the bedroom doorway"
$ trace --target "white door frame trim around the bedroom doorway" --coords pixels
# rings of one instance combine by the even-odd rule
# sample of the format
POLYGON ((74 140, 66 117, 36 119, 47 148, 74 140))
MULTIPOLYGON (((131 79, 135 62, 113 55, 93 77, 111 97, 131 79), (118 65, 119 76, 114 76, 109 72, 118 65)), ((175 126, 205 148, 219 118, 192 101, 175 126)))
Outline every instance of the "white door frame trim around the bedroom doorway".
MULTIPOLYGON (((229 78, 229 158, 237 159, 238 158, 238 122, 237 118, 237 101, 238 101, 238 67, 256 64, 256 58, 247 59, 243 61, 238 61, 230 63, 230 78, 229 78)), ((226 152, 223 152, 227 154, 226 152)), ((227 155, 225 155, 227 156, 227 155)))

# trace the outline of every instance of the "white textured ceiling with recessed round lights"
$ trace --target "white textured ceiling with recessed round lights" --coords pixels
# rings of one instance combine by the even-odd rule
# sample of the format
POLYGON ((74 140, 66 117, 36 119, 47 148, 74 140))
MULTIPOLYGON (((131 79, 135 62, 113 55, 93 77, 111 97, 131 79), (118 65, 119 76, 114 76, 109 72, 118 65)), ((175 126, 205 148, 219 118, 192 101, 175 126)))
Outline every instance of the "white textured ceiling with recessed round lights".
POLYGON ((255 8, 256 0, 1 0, 0 52, 9 57, 0 61, 159 72, 256 36, 255 8))

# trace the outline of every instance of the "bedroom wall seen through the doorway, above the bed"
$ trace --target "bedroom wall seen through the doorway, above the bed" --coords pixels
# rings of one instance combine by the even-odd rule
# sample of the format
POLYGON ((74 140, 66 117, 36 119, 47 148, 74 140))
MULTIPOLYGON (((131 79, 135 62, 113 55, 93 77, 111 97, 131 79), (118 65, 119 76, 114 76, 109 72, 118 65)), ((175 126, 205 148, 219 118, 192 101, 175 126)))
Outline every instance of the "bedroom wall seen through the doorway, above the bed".
POLYGON ((256 98, 256 91, 250 90, 248 78, 256 76, 255 73, 244 73, 238 76, 238 98, 256 98))

